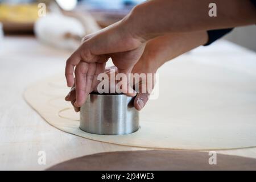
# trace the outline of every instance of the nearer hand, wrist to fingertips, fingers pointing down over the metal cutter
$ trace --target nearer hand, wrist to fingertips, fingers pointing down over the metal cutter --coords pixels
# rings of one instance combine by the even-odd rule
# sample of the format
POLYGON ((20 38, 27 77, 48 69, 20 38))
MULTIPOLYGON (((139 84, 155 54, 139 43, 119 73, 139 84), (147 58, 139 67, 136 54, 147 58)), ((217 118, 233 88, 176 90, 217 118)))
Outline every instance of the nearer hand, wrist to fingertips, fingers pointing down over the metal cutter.
MULTIPOLYGON (((141 57, 144 46, 142 40, 130 33, 125 20, 85 36, 84 42, 67 60, 65 68, 67 85, 71 87, 75 84, 76 87, 74 105, 80 107, 84 104, 92 88, 97 85, 97 75, 104 72, 109 58, 112 58, 119 73, 128 75, 141 57)), ((136 93, 131 90, 127 82, 122 92, 135 96, 136 93)))

